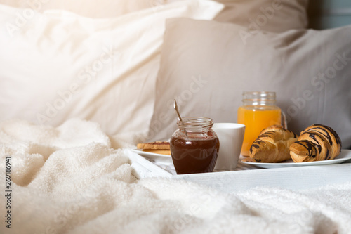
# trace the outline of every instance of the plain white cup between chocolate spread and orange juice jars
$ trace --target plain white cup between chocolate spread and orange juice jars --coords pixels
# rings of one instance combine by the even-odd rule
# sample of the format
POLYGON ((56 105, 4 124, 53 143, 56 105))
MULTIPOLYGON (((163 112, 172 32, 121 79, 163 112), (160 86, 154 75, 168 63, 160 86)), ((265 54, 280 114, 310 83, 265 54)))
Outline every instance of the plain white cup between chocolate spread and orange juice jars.
POLYGON ((215 170, 229 171, 237 167, 241 145, 244 141, 245 125, 235 123, 215 123, 212 129, 216 131, 220 141, 215 170))

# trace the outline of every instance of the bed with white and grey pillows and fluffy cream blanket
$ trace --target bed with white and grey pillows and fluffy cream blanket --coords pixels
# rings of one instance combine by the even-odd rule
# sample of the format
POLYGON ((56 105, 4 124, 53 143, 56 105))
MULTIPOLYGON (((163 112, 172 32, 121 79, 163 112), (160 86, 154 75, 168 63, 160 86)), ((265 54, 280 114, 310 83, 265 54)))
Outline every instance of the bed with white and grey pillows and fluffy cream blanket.
POLYGON ((175 131, 174 98, 236 122, 242 91, 264 90, 289 129, 331 126, 349 154, 346 10, 331 25, 307 0, 0 3, 1 233, 350 233, 351 160, 179 176, 134 150, 175 131))

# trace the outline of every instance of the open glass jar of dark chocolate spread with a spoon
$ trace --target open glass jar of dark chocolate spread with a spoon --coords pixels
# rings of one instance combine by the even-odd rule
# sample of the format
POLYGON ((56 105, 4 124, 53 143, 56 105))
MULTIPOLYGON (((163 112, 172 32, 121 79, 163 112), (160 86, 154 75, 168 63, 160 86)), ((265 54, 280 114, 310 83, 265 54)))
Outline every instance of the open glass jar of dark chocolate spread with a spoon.
POLYGON ((171 156, 177 174, 211 172, 220 143, 213 121, 206 117, 183 117, 171 137, 171 156))

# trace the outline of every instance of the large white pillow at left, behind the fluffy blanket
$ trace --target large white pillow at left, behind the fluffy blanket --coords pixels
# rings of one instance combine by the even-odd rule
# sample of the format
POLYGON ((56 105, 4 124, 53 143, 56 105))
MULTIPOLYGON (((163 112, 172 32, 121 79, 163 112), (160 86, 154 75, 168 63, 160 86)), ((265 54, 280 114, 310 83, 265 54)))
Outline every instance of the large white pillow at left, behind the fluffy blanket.
POLYGON ((147 132, 165 19, 211 20, 222 8, 183 1, 109 20, 67 11, 29 18, 30 9, 0 5, 0 120, 58 126, 79 117, 110 135, 147 132))

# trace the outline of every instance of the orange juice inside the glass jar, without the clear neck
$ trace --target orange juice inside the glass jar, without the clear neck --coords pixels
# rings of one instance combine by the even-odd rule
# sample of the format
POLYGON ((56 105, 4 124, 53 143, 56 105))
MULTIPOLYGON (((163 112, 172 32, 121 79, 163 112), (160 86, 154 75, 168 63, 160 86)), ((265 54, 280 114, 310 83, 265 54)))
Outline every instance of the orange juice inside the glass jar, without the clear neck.
POLYGON ((239 124, 245 125, 244 143, 241 155, 249 156, 249 150, 253 141, 258 138, 260 131, 267 126, 281 124, 281 110, 275 105, 271 106, 241 106, 238 109, 239 124))

